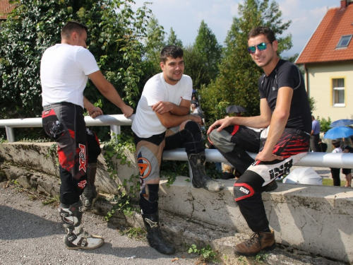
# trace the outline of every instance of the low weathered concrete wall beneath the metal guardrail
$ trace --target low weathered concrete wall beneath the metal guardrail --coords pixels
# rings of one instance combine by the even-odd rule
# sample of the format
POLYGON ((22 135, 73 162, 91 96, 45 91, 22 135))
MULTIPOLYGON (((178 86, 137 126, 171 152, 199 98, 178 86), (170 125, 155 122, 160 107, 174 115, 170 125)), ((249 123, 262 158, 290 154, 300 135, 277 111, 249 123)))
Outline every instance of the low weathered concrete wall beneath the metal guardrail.
MULTIPOLYGON (((2 143, 0 157, 23 167, 42 170, 57 177, 52 159, 45 159, 52 143, 2 143)), ((134 160, 133 154, 128 154, 134 160)), ((111 179, 100 155, 97 186, 115 193, 117 185, 137 175, 135 164, 118 165, 119 179, 111 179)), ((251 234, 232 196, 232 180, 222 192, 195 189, 188 177, 177 177, 169 188, 160 184, 160 208, 220 228, 251 234)), ((277 243, 291 245, 313 254, 353 262, 353 189, 278 183, 275 192, 263 193, 270 227, 277 243)))

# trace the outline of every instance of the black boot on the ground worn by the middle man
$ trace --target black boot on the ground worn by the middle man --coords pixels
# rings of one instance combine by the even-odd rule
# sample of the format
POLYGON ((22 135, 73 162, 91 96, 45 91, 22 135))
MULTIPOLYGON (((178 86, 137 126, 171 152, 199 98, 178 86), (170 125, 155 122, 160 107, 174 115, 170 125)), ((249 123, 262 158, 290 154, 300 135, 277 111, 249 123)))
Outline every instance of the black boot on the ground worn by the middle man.
POLYGON ((158 217, 158 213, 142 214, 142 218, 147 228, 147 240, 150 246, 162 254, 173 254, 175 248, 163 239, 160 232, 160 218, 158 217))

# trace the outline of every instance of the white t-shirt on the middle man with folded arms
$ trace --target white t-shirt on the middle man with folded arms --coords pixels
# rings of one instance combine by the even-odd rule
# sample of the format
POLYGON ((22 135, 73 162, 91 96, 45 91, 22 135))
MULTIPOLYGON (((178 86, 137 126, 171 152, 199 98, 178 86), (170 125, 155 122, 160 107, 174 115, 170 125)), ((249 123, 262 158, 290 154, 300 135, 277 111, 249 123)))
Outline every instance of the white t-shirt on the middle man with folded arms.
POLYGON ((143 88, 131 129, 140 138, 162 134, 167 128, 163 126, 153 112, 152 105, 159 101, 168 101, 180 105, 182 99, 191 100, 192 92, 193 81, 190 76, 183 75, 174 86, 164 81, 163 73, 152 76, 143 88))

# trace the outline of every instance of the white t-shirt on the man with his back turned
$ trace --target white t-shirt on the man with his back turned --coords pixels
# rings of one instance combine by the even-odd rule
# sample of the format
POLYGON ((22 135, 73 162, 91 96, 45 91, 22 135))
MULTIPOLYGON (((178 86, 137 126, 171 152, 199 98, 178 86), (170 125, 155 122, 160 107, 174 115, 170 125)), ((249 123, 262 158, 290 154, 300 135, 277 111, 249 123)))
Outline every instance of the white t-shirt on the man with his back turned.
POLYGON ((83 107, 88 75, 99 70, 88 49, 66 44, 49 47, 40 62, 42 105, 71 102, 83 107))

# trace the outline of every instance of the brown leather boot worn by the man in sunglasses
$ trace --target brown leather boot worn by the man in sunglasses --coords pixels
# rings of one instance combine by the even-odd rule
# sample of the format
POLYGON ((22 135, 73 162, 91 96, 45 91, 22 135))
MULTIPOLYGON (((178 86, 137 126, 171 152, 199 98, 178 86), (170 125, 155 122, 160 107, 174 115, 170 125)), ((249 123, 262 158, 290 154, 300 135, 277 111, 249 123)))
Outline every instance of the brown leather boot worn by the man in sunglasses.
POLYGON ((250 240, 235 246, 235 253, 241 256, 255 256, 261 250, 270 250, 276 247, 275 232, 254 232, 250 240))

